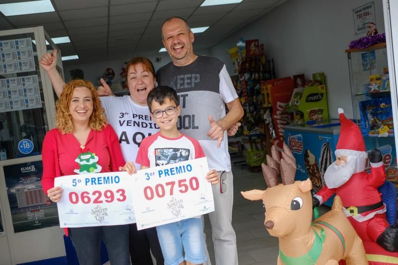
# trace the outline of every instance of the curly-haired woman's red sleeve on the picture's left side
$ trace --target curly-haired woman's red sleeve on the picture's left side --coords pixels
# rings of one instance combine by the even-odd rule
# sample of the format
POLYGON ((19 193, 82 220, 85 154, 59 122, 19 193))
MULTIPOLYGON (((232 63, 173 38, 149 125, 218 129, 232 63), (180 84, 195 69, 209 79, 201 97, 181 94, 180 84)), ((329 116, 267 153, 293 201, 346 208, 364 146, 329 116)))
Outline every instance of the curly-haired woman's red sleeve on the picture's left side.
POLYGON ((49 131, 44 137, 42 148, 43 176, 41 186, 47 195, 47 190, 54 187, 54 178, 57 175, 58 154, 56 152, 55 131, 49 131))

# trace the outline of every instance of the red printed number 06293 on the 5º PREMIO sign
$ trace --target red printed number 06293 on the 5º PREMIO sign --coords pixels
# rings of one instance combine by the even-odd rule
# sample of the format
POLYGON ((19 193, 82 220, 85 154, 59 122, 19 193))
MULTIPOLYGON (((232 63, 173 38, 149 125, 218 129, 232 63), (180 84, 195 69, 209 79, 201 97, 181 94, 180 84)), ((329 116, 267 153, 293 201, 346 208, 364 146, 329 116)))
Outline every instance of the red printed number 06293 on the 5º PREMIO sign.
POLYGON ((73 204, 78 204, 81 201, 84 204, 89 203, 111 203, 115 199, 117 201, 125 201, 126 200, 126 191, 122 188, 116 190, 116 194, 113 193, 112 190, 107 189, 103 192, 100 190, 94 190, 91 194, 88 191, 82 191, 80 194, 71 191, 69 192, 69 201, 73 204))

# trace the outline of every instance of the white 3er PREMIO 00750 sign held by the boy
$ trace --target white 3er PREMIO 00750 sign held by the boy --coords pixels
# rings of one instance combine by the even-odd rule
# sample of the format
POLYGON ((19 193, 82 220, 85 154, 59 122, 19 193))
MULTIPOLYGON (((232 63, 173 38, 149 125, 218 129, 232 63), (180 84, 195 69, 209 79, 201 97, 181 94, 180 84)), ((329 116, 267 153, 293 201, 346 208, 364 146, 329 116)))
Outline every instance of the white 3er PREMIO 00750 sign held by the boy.
POLYGON ((138 230, 214 211, 207 159, 140 170, 132 185, 138 230))

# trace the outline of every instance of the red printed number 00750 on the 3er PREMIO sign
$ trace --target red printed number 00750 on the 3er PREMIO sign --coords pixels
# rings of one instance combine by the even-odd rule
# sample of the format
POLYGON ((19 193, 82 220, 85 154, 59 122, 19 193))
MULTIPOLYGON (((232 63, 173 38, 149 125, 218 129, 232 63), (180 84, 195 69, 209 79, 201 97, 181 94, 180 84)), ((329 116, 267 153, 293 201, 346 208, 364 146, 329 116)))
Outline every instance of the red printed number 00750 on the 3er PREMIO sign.
MULTIPOLYGON (((178 182, 178 191, 180 193, 186 193, 189 189, 197 190, 199 188, 199 179, 198 177, 191 177, 187 183, 187 179, 180 179, 178 182)), ((165 185, 159 183, 156 184, 155 187, 146 186, 144 187, 144 196, 145 199, 151 200, 155 197, 163 198, 166 195, 166 189, 168 188, 169 194, 172 196, 174 194, 174 187, 176 185, 176 181, 166 182, 165 185), (166 188, 165 188, 166 185, 166 188)))

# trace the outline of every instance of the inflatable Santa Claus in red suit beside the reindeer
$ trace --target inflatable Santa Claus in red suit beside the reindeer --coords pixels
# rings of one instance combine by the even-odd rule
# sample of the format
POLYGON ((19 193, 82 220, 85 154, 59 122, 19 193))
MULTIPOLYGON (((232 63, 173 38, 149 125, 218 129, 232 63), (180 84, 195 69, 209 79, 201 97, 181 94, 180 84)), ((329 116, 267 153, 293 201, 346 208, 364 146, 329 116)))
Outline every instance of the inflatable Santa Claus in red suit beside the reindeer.
POLYGON ((371 172, 365 172, 368 155, 358 126, 339 109, 341 132, 335 151, 336 161, 324 174, 323 186, 312 198, 313 206, 325 202, 334 193, 340 196, 344 212, 361 239, 378 243, 390 252, 398 251, 398 225, 386 220, 378 187, 386 180, 379 150, 369 153, 371 172))

